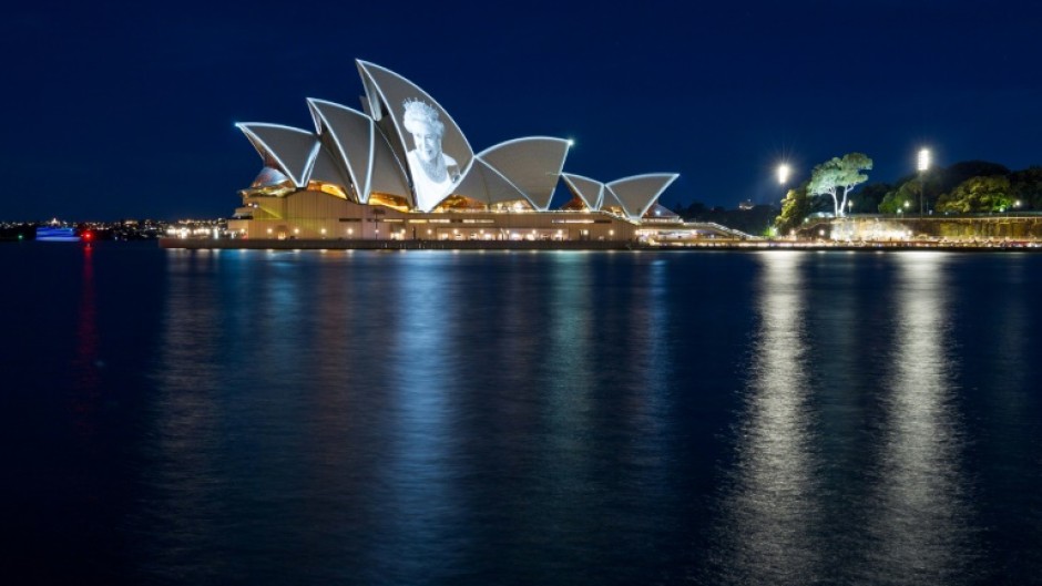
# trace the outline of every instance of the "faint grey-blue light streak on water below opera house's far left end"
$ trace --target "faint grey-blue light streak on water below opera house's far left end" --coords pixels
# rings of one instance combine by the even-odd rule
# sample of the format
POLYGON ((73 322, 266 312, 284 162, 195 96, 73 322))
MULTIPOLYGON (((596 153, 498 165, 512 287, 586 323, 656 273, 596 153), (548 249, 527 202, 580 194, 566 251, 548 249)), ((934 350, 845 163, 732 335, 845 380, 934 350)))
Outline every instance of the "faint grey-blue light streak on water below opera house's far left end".
POLYGON ((217 400, 222 338, 214 328, 222 321, 222 305, 213 281, 203 278, 214 268, 214 255, 173 251, 166 259, 159 399, 144 448, 153 463, 144 479, 149 506, 135 522, 152 538, 134 546, 146 552, 144 573, 200 582, 206 576, 190 570, 221 568, 201 567, 195 559, 222 551, 226 537, 213 508, 227 483, 217 400))

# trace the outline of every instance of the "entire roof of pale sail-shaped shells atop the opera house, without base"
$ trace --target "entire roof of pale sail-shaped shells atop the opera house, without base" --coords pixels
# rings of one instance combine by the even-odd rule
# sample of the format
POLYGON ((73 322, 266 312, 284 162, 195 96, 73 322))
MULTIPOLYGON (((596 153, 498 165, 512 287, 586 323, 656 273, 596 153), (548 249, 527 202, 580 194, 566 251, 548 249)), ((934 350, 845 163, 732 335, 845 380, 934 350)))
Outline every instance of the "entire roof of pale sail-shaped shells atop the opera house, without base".
MULTIPOLYGON (((327 186, 321 189, 343 193, 358 204, 379 202, 399 210, 408 207, 423 213, 452 195, 493 208, 498 204, 523 202, 525 208, 546 212, 558 179, 563 178, 590 210, 612 210, 634 222, 640 222, 677 177, 635 175, 605 184, 562 173, 570 142, 548 136, 507 141, 476 155, 452 117, 427 92, 372 63, 356 64, 366 91, 365 113, 308 99, 315 133, 278 124, 237 124, 260 154, 265 167, 285 175, 297 188, 308 189, 309 182, 337 185, 341 191, 327 186), (409 119, 412 132, 406 128, 407 110, 415 116, 409 119), (428 128, 423 127, 425 116, 428 128), (448 179, 445 174, 438 179, 432 178, 438 174, 417 175, 418 169, 429 167, 430 163, 423 163, 416 152, 409 151, 416 146, 413 142, 430 144, 430 137, 442 130, 439 122, 443 125, 441 147, 449 167, 448 179)), ((318 191, 315 186, 310 188, 318 191)))

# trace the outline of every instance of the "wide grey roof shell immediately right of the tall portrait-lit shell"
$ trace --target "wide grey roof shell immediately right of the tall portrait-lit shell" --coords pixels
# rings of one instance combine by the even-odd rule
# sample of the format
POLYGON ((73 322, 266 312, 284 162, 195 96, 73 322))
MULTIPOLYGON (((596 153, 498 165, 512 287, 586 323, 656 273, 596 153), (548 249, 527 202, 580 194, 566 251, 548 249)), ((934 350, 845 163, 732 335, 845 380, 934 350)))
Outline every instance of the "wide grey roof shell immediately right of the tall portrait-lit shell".
POLYGON ((561 177, 569 145, 563 138, 528 136, 490 146, 478 153, 478 158, 524 194, 532 207, 545 212, 561 177))

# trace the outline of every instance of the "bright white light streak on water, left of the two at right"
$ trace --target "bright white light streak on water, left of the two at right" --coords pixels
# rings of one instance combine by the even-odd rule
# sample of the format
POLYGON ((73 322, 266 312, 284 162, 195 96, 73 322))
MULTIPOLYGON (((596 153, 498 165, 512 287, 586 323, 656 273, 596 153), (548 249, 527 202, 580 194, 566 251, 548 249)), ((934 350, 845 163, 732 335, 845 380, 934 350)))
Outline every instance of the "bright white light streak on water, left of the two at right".
POLYGON ((758 257, 759 328, 712 582, 801 584, 823 562, 813 532, 819 506, 804 331, 806 259, 803 253, 758 257))

